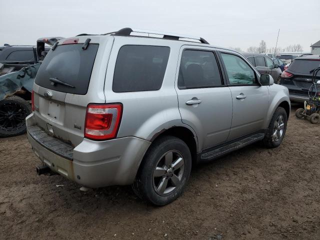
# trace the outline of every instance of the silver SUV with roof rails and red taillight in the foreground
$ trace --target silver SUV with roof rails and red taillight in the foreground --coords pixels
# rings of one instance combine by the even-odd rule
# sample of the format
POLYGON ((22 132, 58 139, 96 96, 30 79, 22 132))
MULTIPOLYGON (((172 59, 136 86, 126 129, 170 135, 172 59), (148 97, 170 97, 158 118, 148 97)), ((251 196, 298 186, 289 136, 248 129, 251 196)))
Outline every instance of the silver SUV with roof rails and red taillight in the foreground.
POLYGON ((191 166, 252 142, 278 146, 288 90, 240 53, 200 37, 123 28, 55 43, 32 92, 27 136, 38 174, 86 187, 181 195, 191 166))

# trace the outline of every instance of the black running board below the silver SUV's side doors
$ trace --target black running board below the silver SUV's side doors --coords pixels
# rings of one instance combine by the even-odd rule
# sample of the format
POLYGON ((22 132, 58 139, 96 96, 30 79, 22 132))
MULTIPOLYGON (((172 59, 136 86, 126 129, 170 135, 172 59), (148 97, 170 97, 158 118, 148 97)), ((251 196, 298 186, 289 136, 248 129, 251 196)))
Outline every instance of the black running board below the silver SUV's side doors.
POLYGON ((227 145, 217 147, 213 150, 202 153, 201 154, 201 161, 212 160, 214 158, 217 158, 219 156, 227 154, 231 151, 234 151, 234 150, 242 148, 246 145, 249 145, 255 141, 262 140, 263 138, 264 138, 264 133, 257 133, 257 134, 242 138, 238 141, 231 142, 227 145))

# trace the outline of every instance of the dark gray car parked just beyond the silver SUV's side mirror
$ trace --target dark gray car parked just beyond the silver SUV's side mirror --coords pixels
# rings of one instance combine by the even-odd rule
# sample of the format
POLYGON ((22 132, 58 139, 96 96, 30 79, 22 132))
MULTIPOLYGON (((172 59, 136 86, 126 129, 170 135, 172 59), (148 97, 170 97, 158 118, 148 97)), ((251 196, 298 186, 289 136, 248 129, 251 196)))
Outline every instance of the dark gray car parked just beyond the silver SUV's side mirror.
POLYGON ((243 53, 243 55, 255 66, 260 74, 270 74, 275 83, 279 82, 282 71, 270 57, 260 53, 243 53))

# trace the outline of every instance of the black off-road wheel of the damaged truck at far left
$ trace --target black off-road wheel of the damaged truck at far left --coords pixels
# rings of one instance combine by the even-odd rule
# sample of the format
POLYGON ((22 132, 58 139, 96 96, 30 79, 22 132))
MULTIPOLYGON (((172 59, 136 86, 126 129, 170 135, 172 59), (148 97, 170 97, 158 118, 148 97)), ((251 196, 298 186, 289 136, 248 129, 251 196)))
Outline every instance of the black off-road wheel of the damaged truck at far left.
POLYGON ((25 117, 31 113, 30 103, 19 96, 9 96, 0 101, 0 137, 23 134, 25 117))

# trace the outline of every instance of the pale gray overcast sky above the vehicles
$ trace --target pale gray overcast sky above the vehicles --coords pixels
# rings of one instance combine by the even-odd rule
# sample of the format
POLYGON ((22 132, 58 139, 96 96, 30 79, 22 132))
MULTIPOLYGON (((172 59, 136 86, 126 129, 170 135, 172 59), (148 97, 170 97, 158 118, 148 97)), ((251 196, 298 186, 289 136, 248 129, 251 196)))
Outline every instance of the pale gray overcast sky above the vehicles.
POLYGON ((1 1, 0 45, 42 36, 105 33, 134 27, 202 36, 246 50, 320 40, 320 0, 14 0, 1 1))

